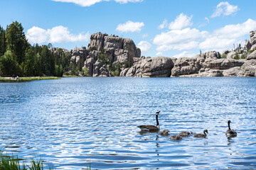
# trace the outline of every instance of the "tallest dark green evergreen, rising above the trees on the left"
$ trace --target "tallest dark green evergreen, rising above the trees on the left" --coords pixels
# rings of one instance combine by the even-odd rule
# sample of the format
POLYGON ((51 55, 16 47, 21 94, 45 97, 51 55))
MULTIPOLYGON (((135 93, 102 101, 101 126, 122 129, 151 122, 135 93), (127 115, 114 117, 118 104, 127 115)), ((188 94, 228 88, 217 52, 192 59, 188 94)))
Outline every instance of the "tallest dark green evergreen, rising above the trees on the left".
POLYGON ((25 59, 25 53, 29 47, 28 40, 26 40, 26 35, 23 32, 21 23, 15 21, 7 26, 6 46, 8 50, 14 52, 18 64, 21 64, 25 59))

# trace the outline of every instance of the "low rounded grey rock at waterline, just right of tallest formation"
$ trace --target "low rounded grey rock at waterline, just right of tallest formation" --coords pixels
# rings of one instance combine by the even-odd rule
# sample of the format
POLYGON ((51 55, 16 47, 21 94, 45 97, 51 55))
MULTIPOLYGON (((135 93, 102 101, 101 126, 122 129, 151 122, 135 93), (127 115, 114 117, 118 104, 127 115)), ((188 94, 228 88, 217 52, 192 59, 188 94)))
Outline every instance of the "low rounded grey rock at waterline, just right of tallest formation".
POLYGON ((174 62, 169 57, 142 57, 129 69, 121 72, 126 77, 170 77, 174 62))

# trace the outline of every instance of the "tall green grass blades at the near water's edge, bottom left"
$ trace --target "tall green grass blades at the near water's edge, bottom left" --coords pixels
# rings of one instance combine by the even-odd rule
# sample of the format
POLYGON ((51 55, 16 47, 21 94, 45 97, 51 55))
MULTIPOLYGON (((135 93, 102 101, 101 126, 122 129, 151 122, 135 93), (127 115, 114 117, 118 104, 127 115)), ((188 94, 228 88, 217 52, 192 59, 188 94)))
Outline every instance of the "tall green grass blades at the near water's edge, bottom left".
MULTIPOLYGON (((43 170, 43 162, 32 160, 31 165, 19 162, 18 157, 11 157, 8 154, 0 154, 0 170, 43 170)), ((51 170, 53 168, 49 168, 51 170)))

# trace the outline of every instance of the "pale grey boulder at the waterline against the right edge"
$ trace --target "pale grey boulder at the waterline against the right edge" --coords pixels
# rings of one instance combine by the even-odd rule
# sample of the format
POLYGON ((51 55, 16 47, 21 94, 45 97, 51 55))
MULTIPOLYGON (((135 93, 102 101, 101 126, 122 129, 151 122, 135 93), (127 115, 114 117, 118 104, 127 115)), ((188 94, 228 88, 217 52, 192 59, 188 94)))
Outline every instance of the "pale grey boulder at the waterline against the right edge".
POLYGON ((238 72, 239 77, 256 77, 256 60, 247 60, 238 72))

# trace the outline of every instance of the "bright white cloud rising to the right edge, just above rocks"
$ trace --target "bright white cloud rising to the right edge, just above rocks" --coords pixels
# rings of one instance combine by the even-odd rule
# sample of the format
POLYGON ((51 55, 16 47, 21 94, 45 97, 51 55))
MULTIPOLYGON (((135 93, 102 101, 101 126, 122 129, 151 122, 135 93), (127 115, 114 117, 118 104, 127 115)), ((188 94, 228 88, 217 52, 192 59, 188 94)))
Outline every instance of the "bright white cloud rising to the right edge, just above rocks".
POLYGON ((256 21, 248 19, 245 23, 227 25, 213 33, 200 43, 199 47, 204 50, 225 50, 233 47, 233 44, 245 42, 245 35, 256 29, 256 21))

